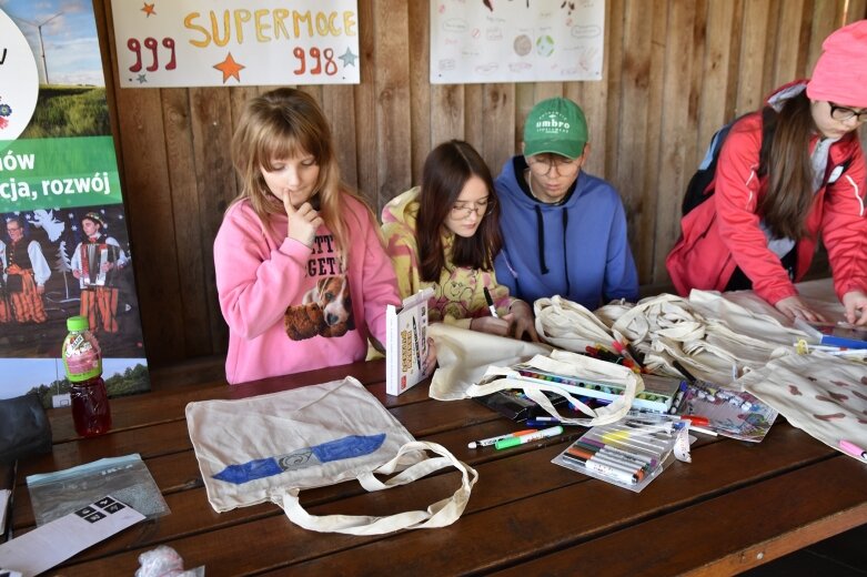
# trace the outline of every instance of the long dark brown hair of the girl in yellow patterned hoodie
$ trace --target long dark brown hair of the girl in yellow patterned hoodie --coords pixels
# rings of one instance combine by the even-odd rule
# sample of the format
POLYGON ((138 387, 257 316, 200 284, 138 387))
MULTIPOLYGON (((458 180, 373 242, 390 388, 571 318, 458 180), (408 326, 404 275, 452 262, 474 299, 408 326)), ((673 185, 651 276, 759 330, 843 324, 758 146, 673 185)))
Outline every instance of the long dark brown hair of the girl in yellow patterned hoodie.
POLYGON ((451 140, 431 151, 422 171, 416 237, 421 277, 425 282, 438 281, 445 267, 445 219, 472 176, 478 176, 485 183, 487 212, 473 236, 466 239, 455 234, 452 262, 471 269, 494 267, 494 256, 503 246, 503 237, 500 233, 500 203, 491 171, 472 145, 451 140))

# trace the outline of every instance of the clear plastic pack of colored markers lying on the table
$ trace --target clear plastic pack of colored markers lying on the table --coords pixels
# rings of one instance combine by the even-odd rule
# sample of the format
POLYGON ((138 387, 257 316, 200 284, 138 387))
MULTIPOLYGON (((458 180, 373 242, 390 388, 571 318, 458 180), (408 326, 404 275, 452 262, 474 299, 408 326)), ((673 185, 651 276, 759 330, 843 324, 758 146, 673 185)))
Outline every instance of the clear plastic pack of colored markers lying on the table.
POLYGON ((671 417, 629 417, 591 428, 553 463, 638 493, 663 470, 676 438, 671 417))

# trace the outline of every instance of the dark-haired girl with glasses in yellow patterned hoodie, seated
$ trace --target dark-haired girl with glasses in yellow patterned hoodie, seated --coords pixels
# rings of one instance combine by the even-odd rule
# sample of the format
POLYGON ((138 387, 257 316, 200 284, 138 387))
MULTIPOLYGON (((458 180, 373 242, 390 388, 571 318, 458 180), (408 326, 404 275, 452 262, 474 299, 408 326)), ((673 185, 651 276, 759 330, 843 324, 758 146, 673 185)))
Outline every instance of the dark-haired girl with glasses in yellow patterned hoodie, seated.
POLYGON ((382 222, 401 296, 433 287, 432 322, 537 340, 530 305, 496 281, 500 204, 491 172, 473 146, 458 140, 436 146, 425 160, 421 186, 389 202, 382 222))

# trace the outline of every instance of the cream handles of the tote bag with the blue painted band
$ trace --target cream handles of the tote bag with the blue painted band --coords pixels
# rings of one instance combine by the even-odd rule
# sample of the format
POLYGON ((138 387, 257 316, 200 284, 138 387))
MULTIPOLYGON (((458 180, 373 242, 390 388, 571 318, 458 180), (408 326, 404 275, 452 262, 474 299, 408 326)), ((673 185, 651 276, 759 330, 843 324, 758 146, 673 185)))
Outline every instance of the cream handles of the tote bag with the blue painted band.
POLYGON ((435 470, 453 466, 461 472, 461 487, 445 499, 438 500, 426 510, 409 510, 387 517, 370 517, 364 515, 311 515, 301 506, 299 494, 301 489, 290 488, 282 494, 283 510, 289 520, 305 529, 320 533, 345 533, 349 535, 382 535, 400 529, 424 529, 445 527, 461 517, 473 485, 478 479, 478 473, 452 455, 445 447, 436 443, 414 441, 401 447, 390 462, 373 472, 359 476, 359 483, 367 492, 390 489, 406 485, 435 470), (430 451, 440 455, 426 458, 402 470, 387 480, 380 480, 374 475, 391 475, 401 465, 401 456, 414 451, 430 451))

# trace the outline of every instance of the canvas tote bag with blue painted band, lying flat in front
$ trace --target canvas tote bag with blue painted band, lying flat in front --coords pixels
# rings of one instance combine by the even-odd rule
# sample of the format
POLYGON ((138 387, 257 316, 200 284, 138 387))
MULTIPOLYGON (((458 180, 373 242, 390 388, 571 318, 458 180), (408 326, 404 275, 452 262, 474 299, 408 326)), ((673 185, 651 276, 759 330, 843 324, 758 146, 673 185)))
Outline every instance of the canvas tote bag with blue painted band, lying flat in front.
POLYGON ((214 510, 270 500, 311 530, 377 535, 443 527, 461 516, 478 478, 442 445, 415 441, 352 377, 239 401, 190 403, 186 424, 214 510), (383 490, 445 467, 461 472, 461 487, 426 510, 314 516, 299 503, 305 488, 357 479, 365 490, 383 490), (395 472, 386 480, 376 477, 395 472))

